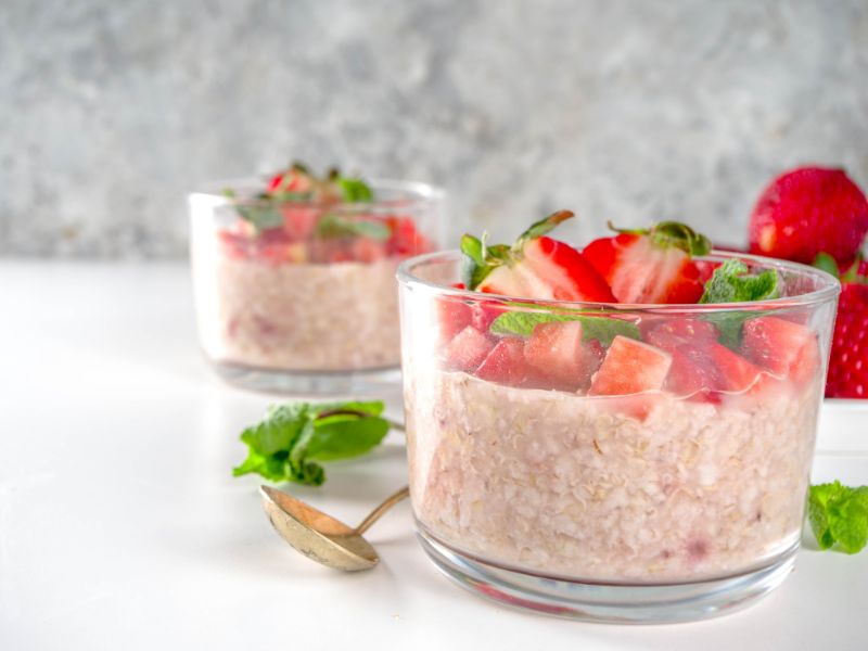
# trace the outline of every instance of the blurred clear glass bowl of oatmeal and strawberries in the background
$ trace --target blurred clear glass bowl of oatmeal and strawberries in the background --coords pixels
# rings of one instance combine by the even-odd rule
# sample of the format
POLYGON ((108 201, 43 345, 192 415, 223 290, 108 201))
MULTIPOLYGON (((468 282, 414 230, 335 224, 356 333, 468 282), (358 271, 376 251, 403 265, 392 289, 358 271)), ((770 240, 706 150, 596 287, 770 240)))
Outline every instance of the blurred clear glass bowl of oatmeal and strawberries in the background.
POLYGON ((225 380, 259 391, 352 394, 396 383, 395 269, 437 248, 443 192, 381 180, 370 183, 373 201, 282 202, 265 201, 260 187, 224 181, 189 197, 206 358, 225 380))

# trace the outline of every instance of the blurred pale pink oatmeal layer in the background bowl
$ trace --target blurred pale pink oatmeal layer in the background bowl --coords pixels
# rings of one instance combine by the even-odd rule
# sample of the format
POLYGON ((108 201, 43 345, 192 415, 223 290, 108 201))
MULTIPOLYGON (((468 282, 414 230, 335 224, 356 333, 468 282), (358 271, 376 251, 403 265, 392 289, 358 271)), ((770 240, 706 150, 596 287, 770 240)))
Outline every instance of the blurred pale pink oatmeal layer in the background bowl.
POLYGON ((212 358, 291 370, 399 363, 396 259, 272 265, 221 256, 213 264, 195 275, 212 358))

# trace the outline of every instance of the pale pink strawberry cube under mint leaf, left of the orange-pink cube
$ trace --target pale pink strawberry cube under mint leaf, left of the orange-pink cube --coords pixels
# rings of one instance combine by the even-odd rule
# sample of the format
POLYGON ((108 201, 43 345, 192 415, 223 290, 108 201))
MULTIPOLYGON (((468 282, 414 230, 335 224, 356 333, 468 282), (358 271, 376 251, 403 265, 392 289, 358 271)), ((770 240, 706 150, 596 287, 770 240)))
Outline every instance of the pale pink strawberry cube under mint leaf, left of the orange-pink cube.
MULTIPOLYGON (((599 342, 596 349, 601 350, 599 342)), ((582 323, 539 323, 524 344, 524 357, 548 388, 575 392, 587 388, 602 355, 582 343, 582 323)))

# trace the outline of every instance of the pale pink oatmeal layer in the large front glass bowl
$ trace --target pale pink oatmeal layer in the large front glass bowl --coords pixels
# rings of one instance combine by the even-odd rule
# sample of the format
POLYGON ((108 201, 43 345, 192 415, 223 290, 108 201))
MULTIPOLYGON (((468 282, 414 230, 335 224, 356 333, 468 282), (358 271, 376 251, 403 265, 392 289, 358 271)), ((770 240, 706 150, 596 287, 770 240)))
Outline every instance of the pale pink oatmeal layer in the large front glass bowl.
POLYGON ((642 421, 610 398, 408 374, 416 516, 459 550, 653 583, 739 573, 799 539, 819 380, 764 400, 662 393, 642 421))

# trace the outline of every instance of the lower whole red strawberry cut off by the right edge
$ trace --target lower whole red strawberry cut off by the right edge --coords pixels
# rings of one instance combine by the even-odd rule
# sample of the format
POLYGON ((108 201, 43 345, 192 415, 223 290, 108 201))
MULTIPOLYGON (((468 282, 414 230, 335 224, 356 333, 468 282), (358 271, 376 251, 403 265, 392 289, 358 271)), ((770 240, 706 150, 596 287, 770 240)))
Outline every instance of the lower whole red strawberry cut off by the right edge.
POLYGON ((826 397, 868 398, 868 263, 841 277, 826 397))

